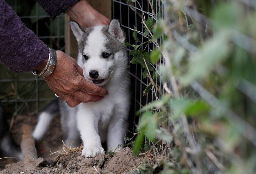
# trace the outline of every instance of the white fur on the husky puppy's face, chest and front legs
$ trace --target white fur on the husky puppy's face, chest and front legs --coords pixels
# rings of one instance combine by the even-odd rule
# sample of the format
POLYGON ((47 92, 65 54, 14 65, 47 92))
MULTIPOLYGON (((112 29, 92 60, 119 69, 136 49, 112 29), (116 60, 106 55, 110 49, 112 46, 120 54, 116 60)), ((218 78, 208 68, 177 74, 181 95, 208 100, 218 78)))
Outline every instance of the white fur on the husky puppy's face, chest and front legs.
MULTIPOLYGON (((79 27, 76 23, 71 29, 79 27)), ((78 28, 76 28, 79 30, 78 28)), ((73 30, 74 31, 74 30, 73 30)), ((127 51, 124 43, 124 33, 120 28, 119 21, 112 20, 107 33, 103 32, 102 26, 94 27, 86 38, 86 44, 79 48, 77 63, 84 70, 84 77, 93 82, 90 71, 99 72, 98 79, 105 79, 100 86, 104 86, 109 94, 103 99, 92 103, 78 105, 77 128, 84 144, 82 155, 93 157, 96 154, 104 154, 101 146, 102 141, 107 140, 108 150, 116 149, 118 144, 123 144, 126 119, 129 109, 129 76, 127 72, 127 51), (108 36, 106 36, 108 35, 108 36), (110 48, 109 36, 114 38, 115 44, 119 44, 121 50, 110 48), (115 51, 113 51, 115 50, 115 51), (102 58, 104 52, 112 54, 112 57, 102 58), (84 61, 83 55, 88 57, 84 61)), ((74 32, 75 33, 75 32, 74 32)), ((78 44, 81 46, 84 33, 76 35, 78 44)), ((80 47, 79 46, 79 47, 80 47)), ((116 45, 113 45, 116 47, 116 45)))

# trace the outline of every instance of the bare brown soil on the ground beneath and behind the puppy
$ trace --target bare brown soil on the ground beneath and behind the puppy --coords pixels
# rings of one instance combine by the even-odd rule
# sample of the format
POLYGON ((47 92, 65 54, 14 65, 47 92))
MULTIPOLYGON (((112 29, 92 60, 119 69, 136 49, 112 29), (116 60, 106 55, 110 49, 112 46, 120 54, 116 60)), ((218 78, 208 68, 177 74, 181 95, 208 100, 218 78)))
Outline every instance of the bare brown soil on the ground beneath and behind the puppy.
MULTIPOLYGON (((37 116, 19 115, 15 117, 12 126, 12 134, 18 144, 21 141, 21 127, 24 123, 29 123, 33 127, 36 125, 37 116)), ((41 142, 37 142, 38 159, 35 161, 37 167, 33 169, 26 168, 23 161, 14 162, 13 160, 4 161, 5 169, 0 174, 68 174, 68 173, 128 173, 133 171, 143 158, 132 154, 129 147, 121 149, 114 155, 99 154, 94 158, 84 158, 81 156, 82 148, 77 148, 69 153, 59 153, 57 151, 65 150, 62 144, 62 134, 60 128, 60 119, 54 118, 41 142), (57 152, 52 154, 53 152, 57 152), (58 156, 58 163, 56 160, 58 156), (58 167, 55 167, 58 166, 58 167)), ((66 146, 67 147, 67 146, 66 146)), ((0 162, 2 162, 0 160, 0 162)), ((3 163, 3 162, 2 162, 3 163)), ((1 170, 1 169, 0 169, 1 170)))

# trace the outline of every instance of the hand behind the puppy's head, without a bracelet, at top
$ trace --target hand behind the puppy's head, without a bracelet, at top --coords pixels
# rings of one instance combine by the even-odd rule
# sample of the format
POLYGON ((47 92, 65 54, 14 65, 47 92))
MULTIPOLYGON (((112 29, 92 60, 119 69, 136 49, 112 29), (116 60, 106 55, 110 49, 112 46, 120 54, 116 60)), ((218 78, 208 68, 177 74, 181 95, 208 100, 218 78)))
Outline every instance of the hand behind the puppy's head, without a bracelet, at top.
POLYGON ((109 25, 110 23, 108 18, 95 10, 86 0, 80 0, 72 5, 67 14, 86 28, 96 25, 109 25))

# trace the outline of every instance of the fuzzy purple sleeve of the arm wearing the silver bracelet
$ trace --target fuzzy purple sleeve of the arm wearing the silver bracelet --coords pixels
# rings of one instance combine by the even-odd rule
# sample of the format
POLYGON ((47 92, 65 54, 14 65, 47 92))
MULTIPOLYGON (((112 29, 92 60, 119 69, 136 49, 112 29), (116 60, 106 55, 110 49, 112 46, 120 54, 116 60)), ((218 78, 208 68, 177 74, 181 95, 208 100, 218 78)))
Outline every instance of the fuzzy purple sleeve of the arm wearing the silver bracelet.
POLYGON ((49 55, 48 47, 0 0, 0 62, 23 73, 39 66, 49 55))

